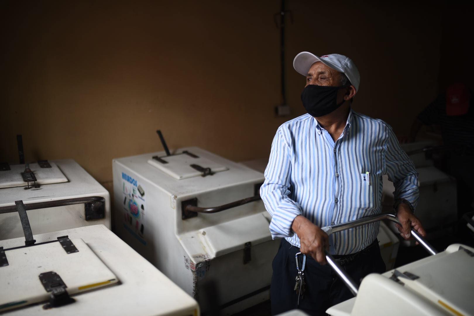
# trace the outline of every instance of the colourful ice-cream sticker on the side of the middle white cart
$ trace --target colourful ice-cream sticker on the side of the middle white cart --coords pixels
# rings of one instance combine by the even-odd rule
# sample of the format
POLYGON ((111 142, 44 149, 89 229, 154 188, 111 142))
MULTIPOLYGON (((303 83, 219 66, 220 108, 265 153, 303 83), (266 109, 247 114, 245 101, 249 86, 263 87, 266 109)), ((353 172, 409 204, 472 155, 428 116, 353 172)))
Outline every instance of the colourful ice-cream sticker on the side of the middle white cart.
POLYGON ((130 235, 146 245, 146 185, 122 172, 122 196, 124 227, 130 235))

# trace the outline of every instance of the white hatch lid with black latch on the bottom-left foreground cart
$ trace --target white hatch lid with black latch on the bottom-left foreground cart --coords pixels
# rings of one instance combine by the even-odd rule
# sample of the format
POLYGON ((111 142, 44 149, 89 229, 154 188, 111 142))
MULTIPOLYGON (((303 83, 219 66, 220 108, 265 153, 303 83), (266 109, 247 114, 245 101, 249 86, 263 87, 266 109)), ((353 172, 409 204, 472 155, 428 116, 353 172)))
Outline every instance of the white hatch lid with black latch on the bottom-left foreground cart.
POLYGON ((59 241, 5 249, 8 265, 0 264, 0 313, 46 302, 51 293, 47 289, 61 285, 61 280, 69 295, 118 282, 115 274, 81 238, 71 242, 77 252, 68 243, 59 241))

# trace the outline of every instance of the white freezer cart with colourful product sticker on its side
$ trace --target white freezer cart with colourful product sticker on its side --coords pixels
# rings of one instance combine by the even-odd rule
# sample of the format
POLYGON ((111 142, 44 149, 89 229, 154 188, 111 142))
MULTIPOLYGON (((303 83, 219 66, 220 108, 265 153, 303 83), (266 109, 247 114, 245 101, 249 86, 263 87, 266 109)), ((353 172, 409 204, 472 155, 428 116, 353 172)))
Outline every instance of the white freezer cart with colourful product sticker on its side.
POLYGON ((230 314, 269 298, 278 249, 261 200, 264 175, 197 147, 114 159, 117 234, 200 303, 230 314), (205 176, 204 176, 205 175, 205 176))

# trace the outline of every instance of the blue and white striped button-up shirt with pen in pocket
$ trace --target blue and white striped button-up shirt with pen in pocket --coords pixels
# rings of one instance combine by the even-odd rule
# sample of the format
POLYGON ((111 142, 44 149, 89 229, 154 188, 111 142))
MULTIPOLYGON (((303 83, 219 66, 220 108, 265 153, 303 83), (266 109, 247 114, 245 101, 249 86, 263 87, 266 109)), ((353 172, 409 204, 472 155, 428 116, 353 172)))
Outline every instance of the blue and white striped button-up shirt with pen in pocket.
MULTIPOLYGON (((418 173, 392 127, 382 120, 351 110, 336 142, 309 114, 284 123, 273 138, 260 189, 272 215, 273 239, 285 237, 300 247, 291 229, 298 215, 324 227, 379 214, 383 174, 395 186, 394 198, 407 199, 416 208, 418 173)), ((330 235, 330 253, 363 250, 375 240, 378 228, 379 223, 373 223, 330 235)))

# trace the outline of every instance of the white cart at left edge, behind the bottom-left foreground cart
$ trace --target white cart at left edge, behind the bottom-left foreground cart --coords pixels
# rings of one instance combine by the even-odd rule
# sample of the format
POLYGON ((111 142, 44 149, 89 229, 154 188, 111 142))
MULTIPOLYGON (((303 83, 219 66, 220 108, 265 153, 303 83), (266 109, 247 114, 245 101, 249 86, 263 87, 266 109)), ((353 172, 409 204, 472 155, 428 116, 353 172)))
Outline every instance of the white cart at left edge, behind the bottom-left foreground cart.
POLYGON ((28 167, 36 182, 23 181, 25 164, 0 170, 0 240, 23 235, 17 200, 24 202, 37 234, 98 224, 110 228, 109 192, 74 160, 53 160, 46 166, 29 163, 28 167), (57 207, 49 208, 52 204, 57 207), (40 208, 28 209, 34 206, 40 208))

